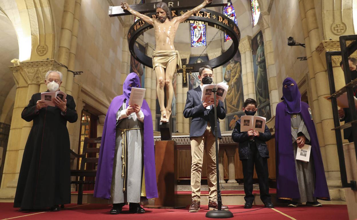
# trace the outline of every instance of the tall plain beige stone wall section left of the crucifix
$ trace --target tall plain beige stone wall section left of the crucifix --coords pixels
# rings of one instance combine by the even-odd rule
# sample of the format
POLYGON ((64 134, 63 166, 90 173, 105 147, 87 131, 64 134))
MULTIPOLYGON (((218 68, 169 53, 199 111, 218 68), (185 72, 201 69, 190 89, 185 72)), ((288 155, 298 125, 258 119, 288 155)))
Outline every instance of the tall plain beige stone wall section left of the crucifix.
POLYGON ((74 81, 99 99, 111 101, 120 93, 122 24, 108 16, 107 1, 82 1, 74 81))

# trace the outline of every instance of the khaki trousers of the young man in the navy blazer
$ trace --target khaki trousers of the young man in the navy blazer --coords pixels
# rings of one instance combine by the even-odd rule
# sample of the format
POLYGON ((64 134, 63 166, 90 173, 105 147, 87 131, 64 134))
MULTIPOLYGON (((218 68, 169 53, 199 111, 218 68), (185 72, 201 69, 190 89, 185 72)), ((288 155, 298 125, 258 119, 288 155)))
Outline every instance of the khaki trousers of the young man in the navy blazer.
POLYGON ((217 201, 216 141, 208 122, 205 133, 191 138, 191 188, 192 201, 201 199, 201 174, 203 164, 203 148, 206 147, 207 182, 210 201, 217 201))

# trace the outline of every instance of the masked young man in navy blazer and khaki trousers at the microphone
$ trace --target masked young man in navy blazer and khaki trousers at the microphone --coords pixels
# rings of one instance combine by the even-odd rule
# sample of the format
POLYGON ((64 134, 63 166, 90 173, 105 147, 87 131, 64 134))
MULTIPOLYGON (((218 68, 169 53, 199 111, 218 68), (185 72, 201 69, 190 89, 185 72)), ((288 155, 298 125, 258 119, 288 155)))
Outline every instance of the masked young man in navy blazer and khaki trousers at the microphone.
MULTIPOLYGON (((190 125, 190 140, 191 140, 191 188, 192 188, 192 204, 189 212, 197 212, 200 210, 200 188, 201 188, 201 173, 203 163, 203 148, 206 147, 207 159, 207 182, 209 190, 208 208, 217 210, 217 171, 216 171, 216 140, 215 140, 215 112, 217 109, 217 117, 224 119, 226 111, 222 101, 216 102, 214 99, 207 98, 201 101, 203 84, 211 84, 213 70, 210 66, 202 66, 199 70, 198 79, 201 84, 187 92, 187 99, 183 116, 192 118, 190 125)), ((217 136, 222 138, 220 130, 220 122, 217 119, 217 136)), ((227 206, 222 205, 222 210, 228 210, 227 206)))

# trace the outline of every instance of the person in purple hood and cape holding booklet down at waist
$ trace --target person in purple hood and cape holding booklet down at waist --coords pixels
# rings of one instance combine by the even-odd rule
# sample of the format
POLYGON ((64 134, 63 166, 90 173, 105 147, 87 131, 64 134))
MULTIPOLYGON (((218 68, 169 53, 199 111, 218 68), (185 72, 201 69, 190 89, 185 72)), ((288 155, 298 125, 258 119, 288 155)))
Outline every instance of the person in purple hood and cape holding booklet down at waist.
POLYGON ((330 200, 320 145, 311 109, 301 101, 295 80, 283 81, 283 101, 276 107, 276 183, 278 199, 288 206, 321 206, 317 199, 330 200), (309 162, 296 160, 297 148, 311 145, 309 162))

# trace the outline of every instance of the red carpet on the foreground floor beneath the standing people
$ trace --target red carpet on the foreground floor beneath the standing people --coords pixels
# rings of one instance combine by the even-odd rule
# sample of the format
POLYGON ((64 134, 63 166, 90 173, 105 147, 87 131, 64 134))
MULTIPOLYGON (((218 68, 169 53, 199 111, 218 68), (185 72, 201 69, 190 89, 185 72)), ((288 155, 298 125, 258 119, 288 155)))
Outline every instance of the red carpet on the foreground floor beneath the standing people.
MULTIPOLYGON (((24 220, 97 220, 97 219, 207 219, 205 214, 208 211, 207 205, 202 205, 198 213, 189 213, 187 209, 146 209, 145 214, 131 214, 128 212, 129 206, 123 208, 123 213, 119 215, 109 215, 110 205, 106 204, 85 204, 77 206, 76 204, 66 205, 66 209, 58 212, 19 212, 12 208, 12 203, 0 204, 0 219, 24 219, 24 220)), ((277 207, 275 210, 263 208, 262 205, 255 205, 253 209, 244 209, 242 205, 228 206, 233 213, 233 219, 250 219, 250 220, 348 220, 346 205, 323 205, 322 207, 297 208, 277 207), (289 218, 278 211, 292 217, 289 218)))

